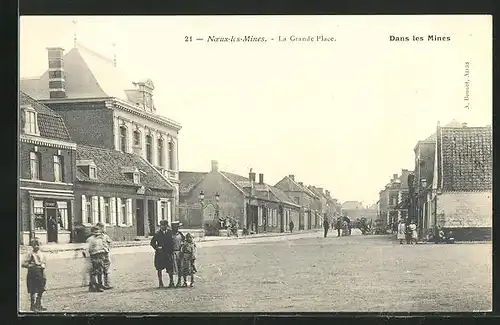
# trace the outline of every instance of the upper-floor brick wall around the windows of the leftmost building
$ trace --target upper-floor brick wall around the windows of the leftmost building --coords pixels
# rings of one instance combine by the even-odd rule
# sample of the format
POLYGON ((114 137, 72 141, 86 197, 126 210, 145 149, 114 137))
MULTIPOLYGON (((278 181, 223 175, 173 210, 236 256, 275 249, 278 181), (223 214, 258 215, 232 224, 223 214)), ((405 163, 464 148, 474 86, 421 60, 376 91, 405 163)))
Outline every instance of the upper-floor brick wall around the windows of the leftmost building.
MULTIPOLYGON (((40 180, 53 182, 54 181, 54 156, 58 150, 63 156, 64 183, 73 183, 74 171, 76 167, 76 152, 70 149, 57 149, 52 147, 37 146, 40 154, 41 175, 40 180)), ((21 142, 19 148, 19 162, 21 179, 30 179, 30 152, 35 150, 35 145, 31 143, 21 142)))

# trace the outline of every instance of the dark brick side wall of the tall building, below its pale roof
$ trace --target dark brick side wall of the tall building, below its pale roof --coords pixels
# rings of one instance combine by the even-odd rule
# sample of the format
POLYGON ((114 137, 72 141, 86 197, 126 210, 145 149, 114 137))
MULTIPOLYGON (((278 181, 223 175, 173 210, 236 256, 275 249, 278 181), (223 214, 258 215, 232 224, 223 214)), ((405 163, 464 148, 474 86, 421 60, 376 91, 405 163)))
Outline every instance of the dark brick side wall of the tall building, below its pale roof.
POLYGON ((64 119, 71 139, 99 148, 114 149, 113 111, 100 103, 45 103, 64 119))

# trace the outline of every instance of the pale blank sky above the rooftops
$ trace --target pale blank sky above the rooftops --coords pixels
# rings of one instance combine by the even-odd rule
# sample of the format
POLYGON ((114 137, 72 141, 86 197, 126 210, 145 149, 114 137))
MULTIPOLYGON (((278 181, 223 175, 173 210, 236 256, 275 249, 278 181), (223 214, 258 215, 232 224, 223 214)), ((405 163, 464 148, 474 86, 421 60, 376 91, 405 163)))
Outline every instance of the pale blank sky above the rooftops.
POLYGON ((413 170, 413 148, 438 121, 492 121, 491 16, 23 16, 20 76, 41 75, 46 48, 67 52, 75 34, 116 55, 130 81, 154 82, 157 112, 182 124, 181 171, 209 171, 217 160, 271 185, 294 174, 369 205, 392 174, 413 170), (335 41, 291 41, 321 35, 335 41))

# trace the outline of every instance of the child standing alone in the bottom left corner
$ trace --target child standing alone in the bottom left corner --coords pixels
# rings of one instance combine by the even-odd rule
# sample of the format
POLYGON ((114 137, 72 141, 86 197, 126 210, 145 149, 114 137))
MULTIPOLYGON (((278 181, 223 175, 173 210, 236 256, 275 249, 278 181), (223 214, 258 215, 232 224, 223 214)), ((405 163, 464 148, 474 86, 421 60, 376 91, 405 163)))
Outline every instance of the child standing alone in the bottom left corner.
POLYGON ((26 284, 30 295, 30 310, 44 311, 47 310, 47 308, 42 306, 42 295, 45 292, 45 284, 47 283, 47 278, 45 277, 47 259, 40 251, 40 241, 38 239, 33 239, 30 246, 32 247, 32 251, 26 254, 21 265, 28 269, 26 284))

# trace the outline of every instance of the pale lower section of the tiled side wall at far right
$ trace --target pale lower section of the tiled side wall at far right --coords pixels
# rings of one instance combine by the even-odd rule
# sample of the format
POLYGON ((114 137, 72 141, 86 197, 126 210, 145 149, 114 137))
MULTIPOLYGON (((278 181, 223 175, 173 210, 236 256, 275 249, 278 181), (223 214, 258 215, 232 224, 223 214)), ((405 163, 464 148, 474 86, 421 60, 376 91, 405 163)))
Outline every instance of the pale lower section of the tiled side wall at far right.
POLYGON ((446 228, 491 228, 492 194, 449 192, 438 195, 438 224, 446 228))

